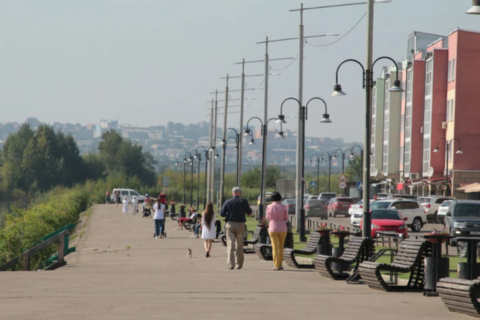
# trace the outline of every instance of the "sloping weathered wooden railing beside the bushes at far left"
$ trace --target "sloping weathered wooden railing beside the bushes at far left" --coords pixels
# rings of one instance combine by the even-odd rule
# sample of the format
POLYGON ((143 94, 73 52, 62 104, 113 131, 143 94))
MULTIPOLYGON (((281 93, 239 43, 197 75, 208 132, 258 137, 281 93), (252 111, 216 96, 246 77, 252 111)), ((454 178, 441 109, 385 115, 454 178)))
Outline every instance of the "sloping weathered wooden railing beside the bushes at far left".
POLYGON ((53 264, 47 266, 48 269, 53 269, 65 264, 64 259, 64 245, 65 245, 65 236, 70 234, 70 230, 64 229, 63 231, 45 239, 43 242, 35 245, 34 247, 26 250, 22 254, 18 255, 17 257, 11 259, 10 261, 0 265, 0 271, 6 271, 12 267, 14 267, 20 260, 23 263, 23 270, 28 271, 30 270, 30 256, 35 254, 38 251, 43 250, 48 245, 52 243, 58 243, 58 258, 57 261, 53 264))

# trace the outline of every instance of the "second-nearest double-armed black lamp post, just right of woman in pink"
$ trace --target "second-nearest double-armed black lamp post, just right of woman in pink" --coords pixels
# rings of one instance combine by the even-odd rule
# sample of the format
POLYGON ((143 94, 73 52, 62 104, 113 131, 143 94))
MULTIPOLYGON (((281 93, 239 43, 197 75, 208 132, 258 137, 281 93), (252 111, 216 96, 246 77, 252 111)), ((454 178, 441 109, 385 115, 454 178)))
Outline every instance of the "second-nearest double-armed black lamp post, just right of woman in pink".
MULTIPOLYGON (((320 100, 323 102, 325 105, 325 113, 323 113, 320 122, 322 123, 329 123, 331 122, 330 120, 330 115, 327 113, 326 110, 326 102, 322 98, 319 97, 312 97, 310 98, 305 106, 301 105, 301 102, 294 98, 294 97, 288 97, 284 99, 281 102, 280 105, 280 114, 278 115, 278 120, 276 120, 277 123, 286 123, 285 121, 285 115, 283 114, 283 103, 285 103, 288 100, 294 100, 298 104, 298 114, 300 115, 300 122, 299 122, 299 128, 298 132, 301 132, 301 136, 297 138, 297 141, 300 142, 299 145, 297 145, 297 166, 299 166, 299 170, 297 170, 296 174, 296 208, 295 208, 295 213, 296 213, 296 229, 297 231, 300 232, 300 241, 305 241, 305 209, 303 208, 303 189, 305 185, 304 181, 304 173, 305 173, 305 166, 304 166, 304 146, 305 146, 305 120, 308 118, 308 103, 310 103, 312 100, 320 100)), ((297 142, 297 143, 298 143, 297 142)))

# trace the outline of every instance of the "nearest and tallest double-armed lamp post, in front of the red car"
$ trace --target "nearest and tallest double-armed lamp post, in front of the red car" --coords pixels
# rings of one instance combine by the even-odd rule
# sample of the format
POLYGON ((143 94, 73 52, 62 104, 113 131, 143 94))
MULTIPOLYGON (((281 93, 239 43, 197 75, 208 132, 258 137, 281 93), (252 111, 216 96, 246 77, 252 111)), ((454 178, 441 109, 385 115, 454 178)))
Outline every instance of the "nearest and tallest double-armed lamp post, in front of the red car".
POLYGON ((400 87, 400 80, 398 79, 398 65, 396 64, 395 60, 393 60, 389 56, 380 56, 377 58, 373 63, 371 63, 371 48, 372 48, 372 27, 373 27, 373 1, 368 0, 368 32, 367 32, 367 58, 366 58, 366 68, 363 67, 358 60, 355 59, 346 59, 343 60, 338 67, 336 68, 335 74, 335 85, 333 86, 333 92, 331 96, 339 96, 345 95, 346 93, 341 90, 341 85, 338 83, 338 69, 340 66, 348 61, 356 62, 360 65, 363 74, 363 83, 362 87, 365 89, 365 136, 364 136, 364 149, 363 149, 363 230, 362 235, 364 237, 371 237, 371 212, 370 212, 370 200, 369 200, 369 193, 370 193, 370 107, 371 107, 371 89, 373 87, 373 69, 374 64, 376 61, 380 59, 388 59, 395 65, 396 70, 396 78, 393 81, 393 86, 388 89, 390 92, 401 92, 403 89, 400 87), (371 63, 371 66, 370 66, 371 63))

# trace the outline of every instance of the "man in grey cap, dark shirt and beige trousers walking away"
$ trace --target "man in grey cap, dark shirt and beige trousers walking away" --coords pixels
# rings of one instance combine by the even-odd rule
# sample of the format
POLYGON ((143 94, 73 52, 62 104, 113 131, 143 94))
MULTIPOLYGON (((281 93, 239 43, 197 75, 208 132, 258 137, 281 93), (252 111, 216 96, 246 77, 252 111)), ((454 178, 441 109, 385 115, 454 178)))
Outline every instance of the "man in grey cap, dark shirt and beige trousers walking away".
POLYGON ((245 235, 245 213, 251 215, 251 208, 248 201, 240 197, 241 189, 235 186, 231 189, 232 197, 226 200, 220 209, 220 215, 225 217, 226 230, 226 266, 230 270, 235 267, 235 248, 236 248, 236 268, 243 266, 243 236, 245 235), (235 245, 236 241, 236 245, 235 245))

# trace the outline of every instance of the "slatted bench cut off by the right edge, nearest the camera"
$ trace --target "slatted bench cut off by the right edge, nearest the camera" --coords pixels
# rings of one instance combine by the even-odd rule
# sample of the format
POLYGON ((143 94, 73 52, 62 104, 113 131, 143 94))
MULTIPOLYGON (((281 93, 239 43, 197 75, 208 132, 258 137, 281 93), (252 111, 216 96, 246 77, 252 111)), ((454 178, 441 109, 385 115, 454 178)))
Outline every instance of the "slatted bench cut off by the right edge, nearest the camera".
POLYGON ((480 279, 441 278, 436 283, 436 292, 448 310, 480 316, 480 279))

